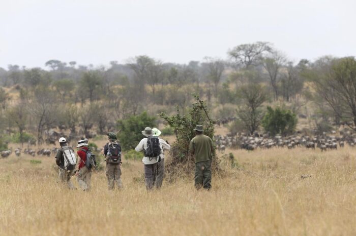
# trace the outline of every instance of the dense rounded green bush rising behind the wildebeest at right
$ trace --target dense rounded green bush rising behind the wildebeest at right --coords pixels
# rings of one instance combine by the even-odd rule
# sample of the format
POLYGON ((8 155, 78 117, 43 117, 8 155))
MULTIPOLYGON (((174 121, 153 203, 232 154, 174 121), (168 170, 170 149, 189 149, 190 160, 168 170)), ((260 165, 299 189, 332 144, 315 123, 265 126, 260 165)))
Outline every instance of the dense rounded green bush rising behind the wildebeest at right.
POLYGON ((267 107, 267 113, 263 116, 262 127, 271 135, 281 134, 283 136, 292 134, 298 119, 296 115, 287 109, 267 107))

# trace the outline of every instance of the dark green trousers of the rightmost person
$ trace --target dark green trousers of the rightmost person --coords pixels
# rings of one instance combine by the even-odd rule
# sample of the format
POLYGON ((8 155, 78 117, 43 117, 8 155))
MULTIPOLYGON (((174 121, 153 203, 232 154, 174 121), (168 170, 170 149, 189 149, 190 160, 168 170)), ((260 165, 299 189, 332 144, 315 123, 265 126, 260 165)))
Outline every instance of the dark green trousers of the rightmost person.
POLYGON ((212 161, 195 163, 194 181, 196 189, 212 187, 212 161))

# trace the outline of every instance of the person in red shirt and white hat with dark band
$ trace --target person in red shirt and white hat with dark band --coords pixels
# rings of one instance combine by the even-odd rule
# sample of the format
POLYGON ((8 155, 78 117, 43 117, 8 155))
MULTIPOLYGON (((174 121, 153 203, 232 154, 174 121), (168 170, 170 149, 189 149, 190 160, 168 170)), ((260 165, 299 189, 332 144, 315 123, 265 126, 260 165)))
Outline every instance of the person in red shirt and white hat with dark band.
POLYGON ((91 178, 92 178, 92 170, 89 170, 85 166, 85 161, 86 161, 86 152, 88 150, 87 143, 85 140, 80 140, 78 142, 77 148, 77 154, 79 156, 79 161, 78 161, 78 171, 76 173, 77 176, 77 181, 81 189, 84 191, 87 191, 91 187, 91 178))

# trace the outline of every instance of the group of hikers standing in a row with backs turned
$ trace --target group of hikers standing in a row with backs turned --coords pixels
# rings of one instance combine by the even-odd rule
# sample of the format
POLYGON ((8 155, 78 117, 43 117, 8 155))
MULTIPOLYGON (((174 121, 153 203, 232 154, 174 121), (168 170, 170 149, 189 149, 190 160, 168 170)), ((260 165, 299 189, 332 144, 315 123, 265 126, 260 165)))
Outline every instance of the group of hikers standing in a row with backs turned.
MULTIPOLYGON (((195 137, 190 141, 189 150, 195 158, 194 182, 197 189, 209 190, 212 185, 212 153, 214 150, 213 141, 209 136, 203 134, 203 126, 197 125, 194 129, 195 137)), ((170 150, 168 141, 161 139, 161 131, 157 128, 146 127, 142 131, 144 138, 138 143, 135 150, 143 152, 142 163, 144 165, 144 179, 147 190, 162 186, 164 177, 164 150, 170 150)), ((102 154, 106 162, 106 177, 108 189, 123 188, 121 180, 122 150, 117 141, 115 133, 108 133, 108 143, 105 144, 102 154)), ((59 179, 67 184, 68 188, 75 189, 71 182, 72 176, 76 176, 79 187, 90 190, 92 171, 96 168, 95 154, 88 148, 88 140, 79 140, 77 144, 76 158, 74 149, 68 145, 66 138, 60 138, 61 147, 55 156, 56 164, 59 167, 59 179)))

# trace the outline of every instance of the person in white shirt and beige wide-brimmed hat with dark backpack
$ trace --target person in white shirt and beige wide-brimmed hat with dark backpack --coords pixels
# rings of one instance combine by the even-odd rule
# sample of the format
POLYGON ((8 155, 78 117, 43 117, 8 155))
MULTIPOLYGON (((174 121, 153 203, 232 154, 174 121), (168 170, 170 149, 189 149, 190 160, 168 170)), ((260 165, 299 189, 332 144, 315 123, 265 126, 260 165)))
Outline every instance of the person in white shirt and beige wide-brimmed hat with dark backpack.
POLYGON ((163 148, 162 148, 162 144, 159 143, 160 154, 158 154, 158 156, 155 156, 155 157, 147 156, 146 155, 146 150, 148 148, 147 142, 152 143, 154 138, 156 138, 156 139, 158 139, 158 138, 156 136, 153 136, 153 132, 150 127, 146 127, 142 131, 142 135, 145 136, 145 138, 143 138, 138 143, 135 150, 137 152, 144 151, 142 163, 144 165, 144 179, 145 179, 145 183, 146 183, 146 189, 152 190, 156 183, 155 181, 156 181, 156 173, 157 173, 157 163, 159 162, 160 154, 163 153, 163 148))

